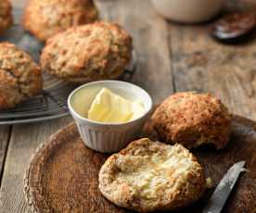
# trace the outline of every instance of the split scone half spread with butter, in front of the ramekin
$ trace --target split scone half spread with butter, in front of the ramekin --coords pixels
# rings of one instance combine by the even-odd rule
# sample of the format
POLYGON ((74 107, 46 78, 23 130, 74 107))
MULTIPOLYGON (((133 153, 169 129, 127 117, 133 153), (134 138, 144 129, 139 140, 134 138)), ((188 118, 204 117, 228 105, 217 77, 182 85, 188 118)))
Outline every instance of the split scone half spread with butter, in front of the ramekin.
POLYGON ((204 193, 204 171, 181 144, 143 138, 107 159, 99 190, 110 202, 139 212, 176 210, 204 193))

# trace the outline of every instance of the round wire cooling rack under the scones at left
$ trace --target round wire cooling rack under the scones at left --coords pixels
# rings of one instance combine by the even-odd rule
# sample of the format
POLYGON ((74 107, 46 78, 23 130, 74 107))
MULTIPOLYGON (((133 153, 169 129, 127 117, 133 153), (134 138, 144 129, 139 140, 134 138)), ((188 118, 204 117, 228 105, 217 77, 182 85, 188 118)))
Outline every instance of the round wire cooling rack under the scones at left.
MULTIPOLYGON (((14 9, 15 24, 9 31, 6 31, 4 36, 0 37, 0 42, 8 41, 17 44, 19 48, 25 50, 38 62, 44 44, 37 41, 19 25, 21 12, 20 9, 14 9)), ((130 81, 133 78, 136 70, 135 58, 135 53, 133 53, 133 61, 124 70, 120 78, 122 81, 130 81)), ((69 114, 67 99, 70 92, 75 89, 76 86, 66 81, 58 80, 46 73, 43 74, 43 78, 44 89, 42 94, 23 102, 15 108, 0 110, 0 125, 58 119, 69 114)))

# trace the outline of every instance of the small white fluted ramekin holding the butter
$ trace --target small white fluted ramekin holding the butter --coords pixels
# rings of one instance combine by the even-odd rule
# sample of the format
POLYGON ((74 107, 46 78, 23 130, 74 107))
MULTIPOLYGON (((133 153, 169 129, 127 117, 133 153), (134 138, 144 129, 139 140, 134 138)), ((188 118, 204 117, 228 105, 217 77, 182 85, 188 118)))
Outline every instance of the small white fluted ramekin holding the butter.
POLYGON ((69 96, 68 106, 84 144, 98 152, 113 153, 126 147, 141 132, 144 121, 152 108, 152 99, 145 90, 129 82, 94 81, 75 89, 69 96), (138 119, 124 123, 104 123, 85 119, 82 110, 88 111, 96 94, 103 87, 125 98, 142 101, 146 109, 145 113, 138 119), (78 96, 80 98, 77 98, 78 96))

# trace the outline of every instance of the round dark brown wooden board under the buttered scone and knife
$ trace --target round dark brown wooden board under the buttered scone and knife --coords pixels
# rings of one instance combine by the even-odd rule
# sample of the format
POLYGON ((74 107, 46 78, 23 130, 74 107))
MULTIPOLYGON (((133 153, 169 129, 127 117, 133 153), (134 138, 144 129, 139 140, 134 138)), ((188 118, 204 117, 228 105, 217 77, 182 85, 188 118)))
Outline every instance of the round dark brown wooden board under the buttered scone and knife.
MULTIPOLYGON (((157 139, 150 121, 144 136, 157 139)), ((234 117, 231 141, 222 151, 213 147, 192 150, 213 181, 212 189, 195 205, 180 212, 201 212, 215 186, 234 163, 246 160, 224 213, 256 212, 256 123, 234 117)), ((25 195, 32 212, 128 212, 115 207, 99 192, 98 170, 108 156, 84 146, 74 123, 52 135, 32 157, 25 176, 25 195)))

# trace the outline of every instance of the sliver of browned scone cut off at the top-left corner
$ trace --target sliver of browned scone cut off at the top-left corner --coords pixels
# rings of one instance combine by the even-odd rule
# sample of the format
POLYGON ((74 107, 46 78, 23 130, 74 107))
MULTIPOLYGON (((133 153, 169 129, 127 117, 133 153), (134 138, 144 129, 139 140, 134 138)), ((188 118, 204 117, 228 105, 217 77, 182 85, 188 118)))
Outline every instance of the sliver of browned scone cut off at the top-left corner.
POLYGON ((0 1, 0 34, 4 33, 13 22, 12 7, 9 0, 0 1))

